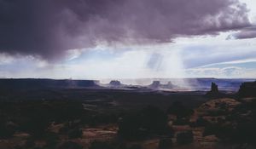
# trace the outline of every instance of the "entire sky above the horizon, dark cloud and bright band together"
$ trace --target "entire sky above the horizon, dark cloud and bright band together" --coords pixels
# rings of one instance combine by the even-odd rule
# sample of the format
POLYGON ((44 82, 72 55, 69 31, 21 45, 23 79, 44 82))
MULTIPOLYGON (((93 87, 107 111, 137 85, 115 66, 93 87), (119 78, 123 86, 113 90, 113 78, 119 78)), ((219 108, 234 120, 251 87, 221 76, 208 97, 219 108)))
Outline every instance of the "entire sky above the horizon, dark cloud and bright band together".
POLYGON ((256 1, 0 0, 0 77, 256 78, 256 1))

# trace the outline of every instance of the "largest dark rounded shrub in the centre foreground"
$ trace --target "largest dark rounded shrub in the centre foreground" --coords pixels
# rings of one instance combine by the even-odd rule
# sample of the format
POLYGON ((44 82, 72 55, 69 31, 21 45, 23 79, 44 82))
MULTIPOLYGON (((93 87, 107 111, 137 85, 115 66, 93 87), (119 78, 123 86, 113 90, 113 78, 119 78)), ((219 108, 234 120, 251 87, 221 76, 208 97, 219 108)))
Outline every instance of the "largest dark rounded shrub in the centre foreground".
POLYGON ((150 135, 171 135, 167 116, 160 109, 148 106, 140 112, 128 114, 119 122, 119 136, 129 139, 144 139, 150 135))

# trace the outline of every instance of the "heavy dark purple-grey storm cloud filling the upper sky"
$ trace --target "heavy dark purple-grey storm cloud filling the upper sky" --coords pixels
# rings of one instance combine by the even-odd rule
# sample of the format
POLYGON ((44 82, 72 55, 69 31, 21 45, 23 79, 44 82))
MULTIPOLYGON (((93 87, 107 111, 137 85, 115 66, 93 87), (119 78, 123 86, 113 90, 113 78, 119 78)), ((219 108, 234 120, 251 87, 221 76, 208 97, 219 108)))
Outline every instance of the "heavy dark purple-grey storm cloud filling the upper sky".
POLYGON ((96 42, 170 42, 245 26, 237 0, 0 0, 0 53, 53 59, 96 42))

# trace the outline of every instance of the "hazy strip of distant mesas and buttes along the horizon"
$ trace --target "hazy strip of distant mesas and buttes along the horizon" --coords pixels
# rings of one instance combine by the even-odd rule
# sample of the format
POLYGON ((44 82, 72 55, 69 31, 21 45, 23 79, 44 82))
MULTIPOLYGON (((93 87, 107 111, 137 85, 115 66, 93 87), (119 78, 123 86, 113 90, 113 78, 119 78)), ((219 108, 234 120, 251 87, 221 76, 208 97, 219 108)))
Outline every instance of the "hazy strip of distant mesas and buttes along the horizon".
MULTIPOLYGON (((98 80, 73 79, 41 79, 41 78, 1 78, 0 89, 77 89, 77 88, 110 88, 110 89, 170 89, 170 90, 201 90, 211 89, 216 83, 219 90, 237 91, 241 83, 254 82, 255 79, 218 79, 218 78, 158 78, 133 79, 141 84, 128 84, 127 80, 110 80, 100 83, 98 80), (144 82, 144 84, 143 84, 144 82), (148 84, 145 84, 147 82, 148 84), (150 83, 151 82, 151 83, 150 83)), ((132 82, 131 81, 131 82, 132 82)))

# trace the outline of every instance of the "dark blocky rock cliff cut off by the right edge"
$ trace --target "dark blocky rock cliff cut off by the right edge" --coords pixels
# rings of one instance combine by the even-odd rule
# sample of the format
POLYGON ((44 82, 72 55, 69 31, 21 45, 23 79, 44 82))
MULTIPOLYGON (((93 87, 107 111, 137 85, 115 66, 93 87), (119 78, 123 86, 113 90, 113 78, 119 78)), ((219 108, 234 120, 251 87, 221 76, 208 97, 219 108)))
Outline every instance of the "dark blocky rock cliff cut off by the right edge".
POLYGON ((256 81, 252 83, 241 83, 238 95, 240 97, 256 97, 256 81))

